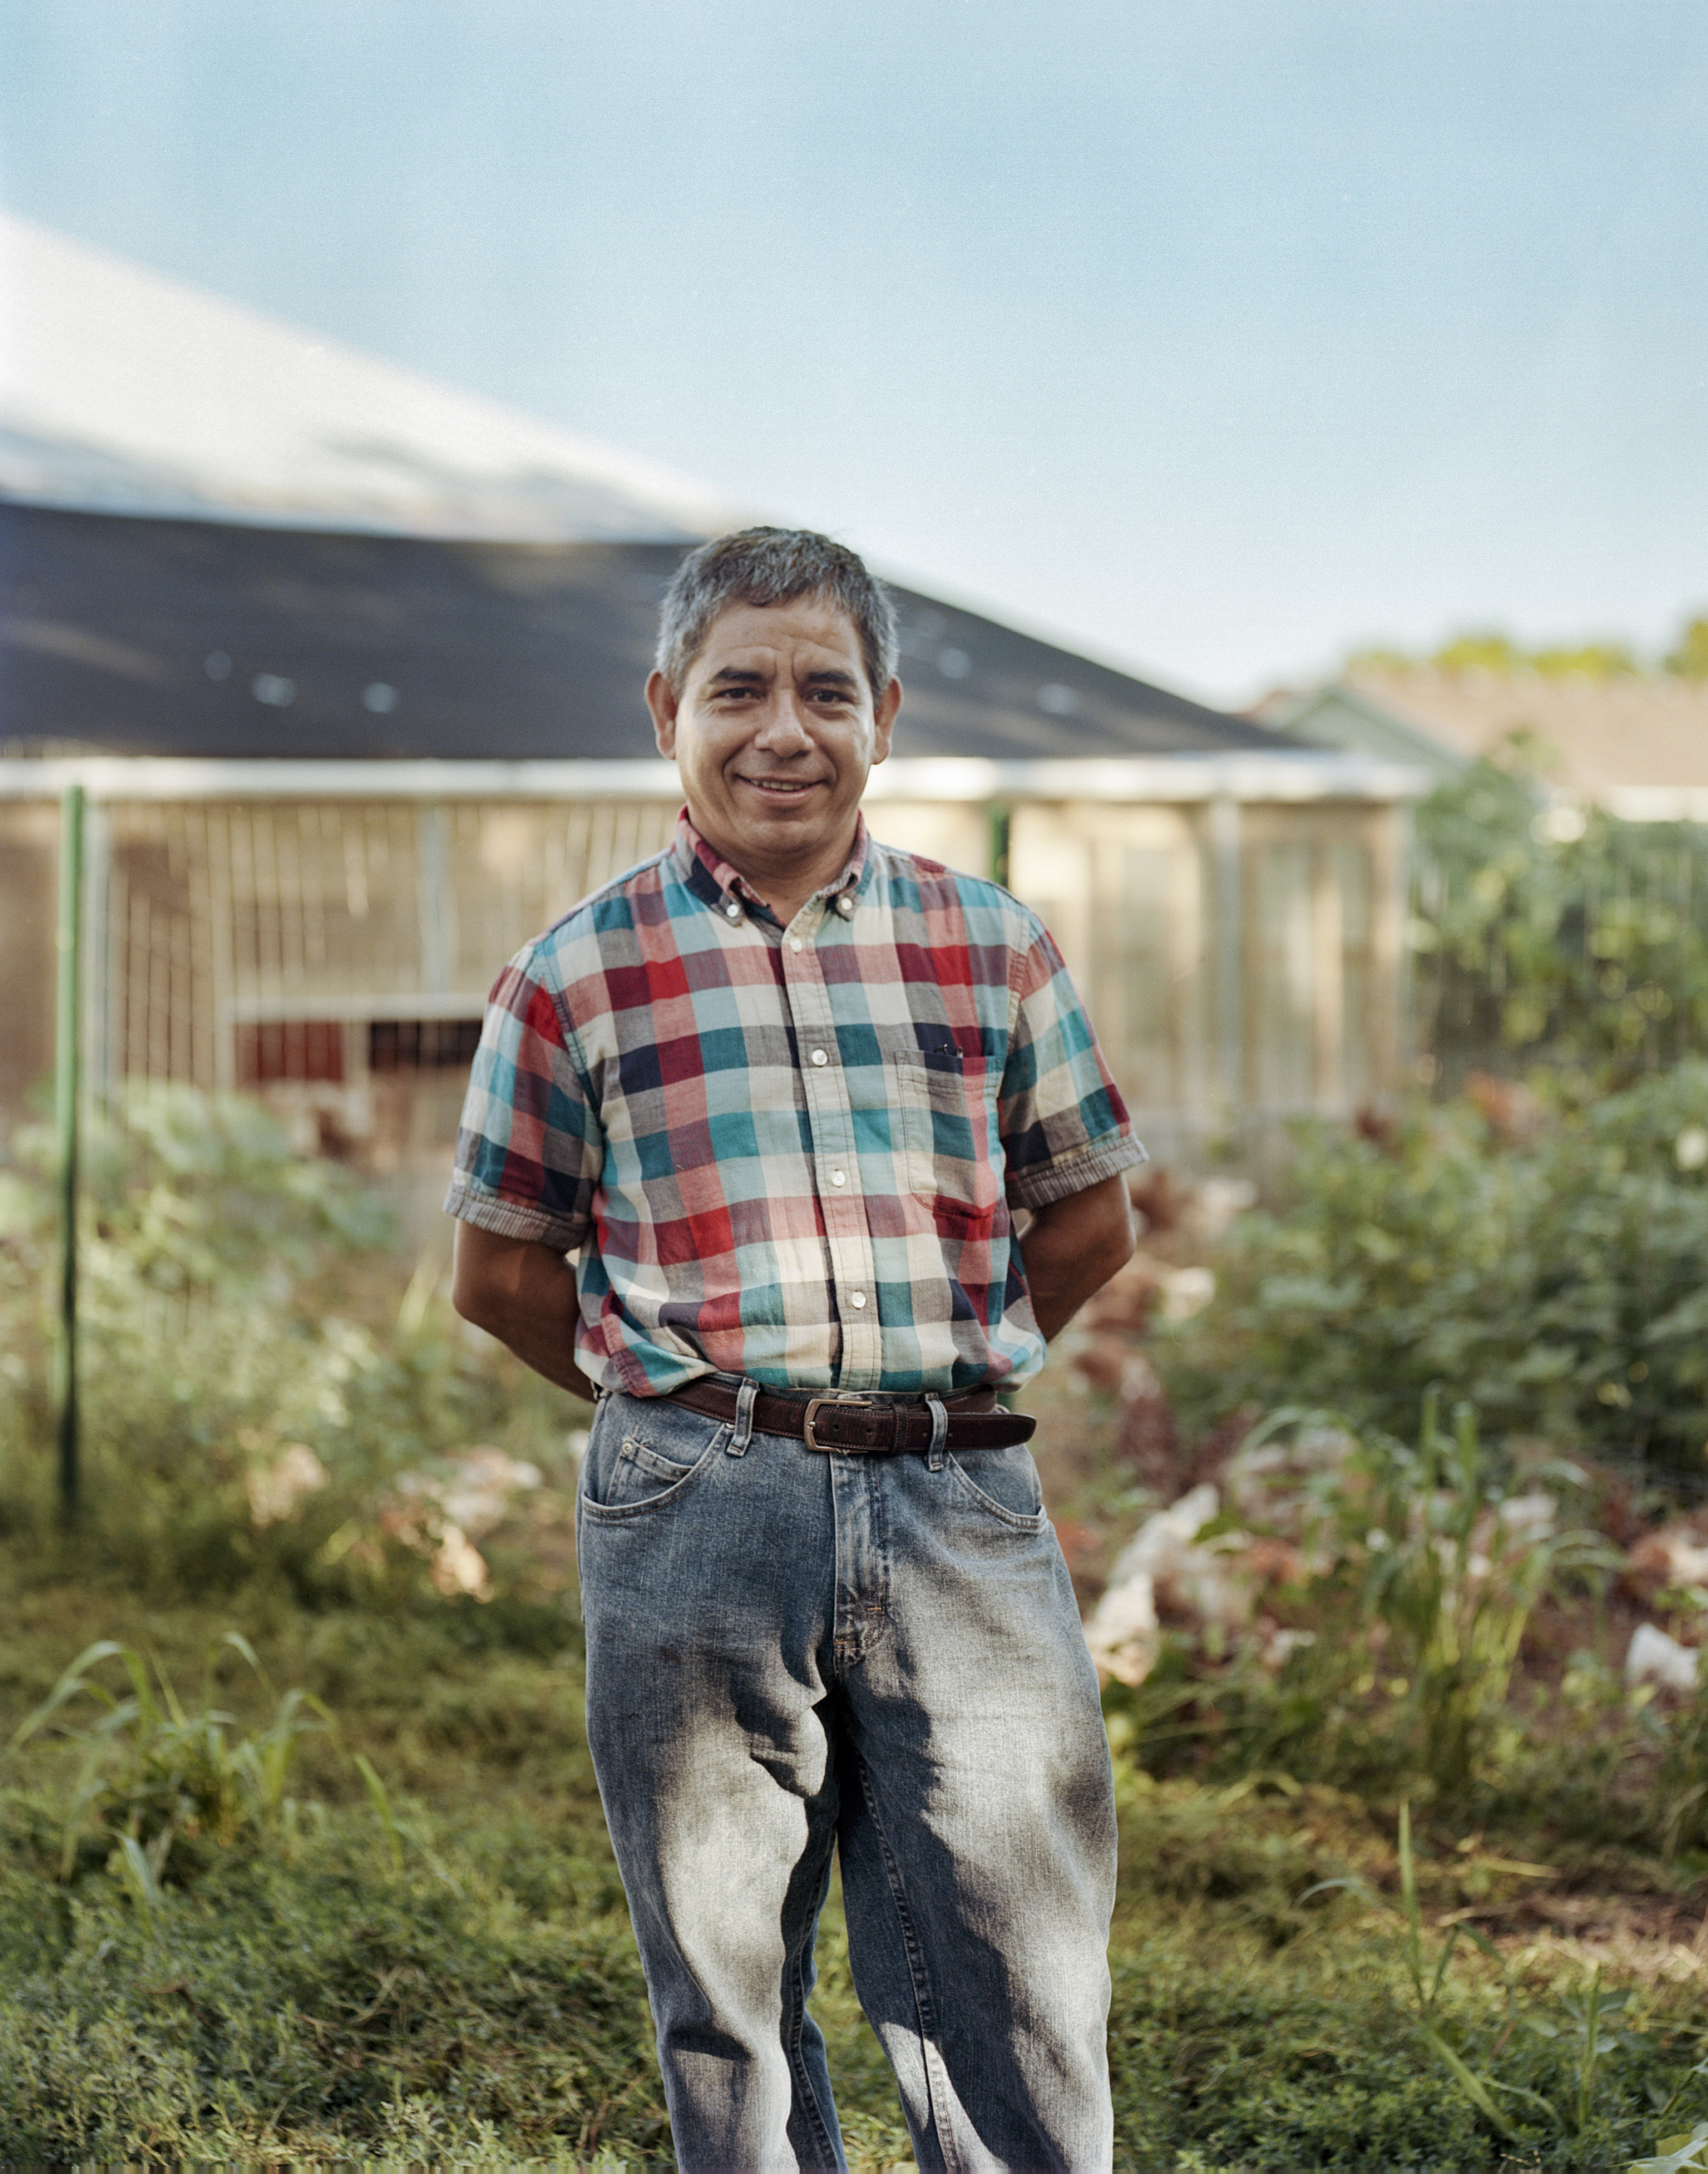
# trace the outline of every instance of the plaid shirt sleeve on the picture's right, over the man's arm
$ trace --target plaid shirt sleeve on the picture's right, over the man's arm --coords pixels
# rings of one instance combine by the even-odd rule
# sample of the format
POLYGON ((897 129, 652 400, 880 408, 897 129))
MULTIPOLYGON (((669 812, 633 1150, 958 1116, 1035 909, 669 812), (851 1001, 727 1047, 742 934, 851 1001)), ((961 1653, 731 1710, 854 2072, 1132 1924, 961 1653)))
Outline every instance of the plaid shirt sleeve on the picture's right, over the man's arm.
POLYGON ((1041 1209, 1147 1161, 1050 930, 1017 961, 997 1126, 1008 1200, 1041 1209))

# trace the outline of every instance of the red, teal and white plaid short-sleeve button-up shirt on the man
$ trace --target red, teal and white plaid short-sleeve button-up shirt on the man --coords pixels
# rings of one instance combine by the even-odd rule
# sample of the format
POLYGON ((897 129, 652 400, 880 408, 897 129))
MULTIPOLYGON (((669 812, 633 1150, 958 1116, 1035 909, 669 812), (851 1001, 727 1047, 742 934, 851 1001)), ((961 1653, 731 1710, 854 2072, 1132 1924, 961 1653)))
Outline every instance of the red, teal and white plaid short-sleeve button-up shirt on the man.
POLYGON ((580 1254, 600 1387, 947 1396, 1043 1363, 1010 1207, 1143 1159, 1004 889, 861 822, 784 928, 682 815, 498 976, 445 1207, 580 1254))

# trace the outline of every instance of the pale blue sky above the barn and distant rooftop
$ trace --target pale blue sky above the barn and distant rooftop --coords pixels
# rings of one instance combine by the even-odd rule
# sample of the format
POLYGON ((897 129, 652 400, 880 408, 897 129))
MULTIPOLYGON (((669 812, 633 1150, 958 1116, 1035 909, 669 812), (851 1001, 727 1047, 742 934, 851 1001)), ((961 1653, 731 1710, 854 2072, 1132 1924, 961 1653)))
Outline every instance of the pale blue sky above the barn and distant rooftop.
POLYGON ((1219 702, 1708 611, 1708 0, 0 0, 0 202, 1219 702))

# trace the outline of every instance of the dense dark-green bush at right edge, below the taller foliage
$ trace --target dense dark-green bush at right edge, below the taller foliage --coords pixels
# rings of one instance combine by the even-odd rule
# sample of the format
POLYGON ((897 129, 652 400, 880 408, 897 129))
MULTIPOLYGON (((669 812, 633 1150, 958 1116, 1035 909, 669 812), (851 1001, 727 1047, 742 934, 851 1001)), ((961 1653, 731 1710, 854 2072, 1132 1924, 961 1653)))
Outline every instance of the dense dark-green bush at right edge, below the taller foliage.
POLYGON ((1304 1128, 1284 1202, 1154 1352, 1189 1426, 1310 1402, 1399 1435, 1449 1385, 1495 1437, 1701 1474, 1708 1065, 1536 1107, 1521 1141, 1471 1102, 1304 1128))

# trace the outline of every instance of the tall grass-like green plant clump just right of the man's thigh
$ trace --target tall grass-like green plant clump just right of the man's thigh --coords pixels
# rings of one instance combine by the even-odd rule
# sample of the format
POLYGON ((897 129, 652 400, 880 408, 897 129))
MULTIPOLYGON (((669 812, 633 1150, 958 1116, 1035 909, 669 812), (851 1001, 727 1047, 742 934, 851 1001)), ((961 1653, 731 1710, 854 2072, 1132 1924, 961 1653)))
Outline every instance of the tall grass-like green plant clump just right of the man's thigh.
MULTIPOLYGON (((1276 1411, 1241 1452, 1286 1452, 1289 1437, 1341 1444, 1276 1498, 1280 1528, 1234 1509, 1217 1520, 1243 1528, 1230 1546, 1293 1550, 1299 1576, 1269 1604, 1308 1628, 1276 1639, 1271 1617, 1230 1652, 1165 1639, 1145 1683, 1106 1691, 1110 1741, 1158 1772, 1189 1763, 1221 1778, 1462 1804, 1519 1754, 1512 1674, 1543 1596, 1608 1574, 1619 1557, 1599 1535, 1558 1526, 1560 1502, 1582 1483, 1575 1467, 1532 1467, 1530 1491, 1510 1491, 1465 1407, 1449 1433, 1426 1396, 1415 1446, 1326 1417, 1276 1411)), ((1630 1750, 1621 1733, 1619 1757, 1630 1750)))

